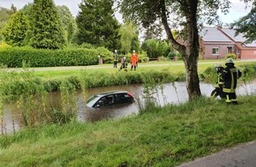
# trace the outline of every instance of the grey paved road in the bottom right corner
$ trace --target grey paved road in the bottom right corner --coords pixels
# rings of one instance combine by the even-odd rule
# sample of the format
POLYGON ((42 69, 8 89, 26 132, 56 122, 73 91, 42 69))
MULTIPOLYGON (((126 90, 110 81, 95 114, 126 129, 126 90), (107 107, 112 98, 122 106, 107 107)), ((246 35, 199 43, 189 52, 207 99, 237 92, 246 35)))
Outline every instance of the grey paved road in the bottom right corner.
POLYGON ((178 167, 256 167, 256 141, 240 144, 178 167))

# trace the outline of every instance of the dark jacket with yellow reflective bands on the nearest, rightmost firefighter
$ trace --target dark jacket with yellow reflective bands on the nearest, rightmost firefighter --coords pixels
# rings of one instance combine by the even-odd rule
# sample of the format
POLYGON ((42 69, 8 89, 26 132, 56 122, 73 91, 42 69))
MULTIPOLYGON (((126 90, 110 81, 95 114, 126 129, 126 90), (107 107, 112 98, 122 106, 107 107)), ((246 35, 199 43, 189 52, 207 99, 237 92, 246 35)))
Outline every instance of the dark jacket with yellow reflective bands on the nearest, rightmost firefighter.
POLYGON ((226 68, 222 71, 223 78, 223 92, 236 92, 237 79, 242 76, 242 73, 237 69, 234 63, 226 63, 226 68))

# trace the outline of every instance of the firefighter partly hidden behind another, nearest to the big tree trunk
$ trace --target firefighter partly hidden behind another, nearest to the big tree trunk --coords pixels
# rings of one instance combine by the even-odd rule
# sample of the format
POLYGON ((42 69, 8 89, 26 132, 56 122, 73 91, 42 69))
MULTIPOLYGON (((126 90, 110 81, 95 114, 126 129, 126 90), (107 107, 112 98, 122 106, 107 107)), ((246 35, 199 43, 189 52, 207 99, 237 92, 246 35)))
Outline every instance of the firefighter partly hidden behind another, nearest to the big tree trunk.
POLYGON ((212 91, 211 97, 216 98, 220 96, 220 98, 224 98, 223 92, 222 92, 222 84, 223 84, 223 79, 222 79, 222 70, 224 69, 222 67, 222 64, 215 64, 215 69, 217 72, 217 82, 215 84, 215 90, 212 91))

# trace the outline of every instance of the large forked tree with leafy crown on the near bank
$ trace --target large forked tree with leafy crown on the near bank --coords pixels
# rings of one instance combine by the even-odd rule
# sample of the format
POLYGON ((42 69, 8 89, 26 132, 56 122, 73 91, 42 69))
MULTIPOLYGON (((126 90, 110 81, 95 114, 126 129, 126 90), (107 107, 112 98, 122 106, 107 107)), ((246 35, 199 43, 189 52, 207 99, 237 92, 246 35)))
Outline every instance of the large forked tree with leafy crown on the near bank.
MULTIPOLYGON (((118 0, 117 0, 118 1, 118 0)), ((135 20, 148 27, 159 23, 164 27, 167 38, 184 60, 186 89, 189 99, 201 96, 198 75, 199 27, 205 16, 211 24, 217 18, 217 11, 227 11, 229 0, 120 0, 124 21, 135 20), (171 30, 180 29, 181 38, 176 40, 171 30)))

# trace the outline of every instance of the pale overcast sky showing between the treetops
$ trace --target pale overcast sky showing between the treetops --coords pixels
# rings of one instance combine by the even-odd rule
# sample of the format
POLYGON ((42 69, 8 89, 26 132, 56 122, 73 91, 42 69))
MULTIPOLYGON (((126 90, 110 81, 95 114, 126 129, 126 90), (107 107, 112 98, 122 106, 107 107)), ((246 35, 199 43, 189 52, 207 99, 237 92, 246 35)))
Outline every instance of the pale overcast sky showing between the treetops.
MULTIPOLYGON (((18 9, 21 9, 25 4, 33 3, 34 0, 0 0, 0 7, 4 7, 7 9, 11 8, 11 4, 16 6, 18 9)), ((232 23, 234 20, 238 18, 242 18, 249 11, 250 8, 245 10, 245 4, 240 0, 230 0, 232 2, 230 12, 227 15, 221 14, 223 23, 232 23)), ((79 12, 79 4, 81 0, 54 0, 56 5, 66 5, 69 7, 72 15, 75 17, 79 12)), ((1 17, 1 16, 0 16, 1 17)), ((116 15, 117 19, 121 19, 120 15, 116 15)))

